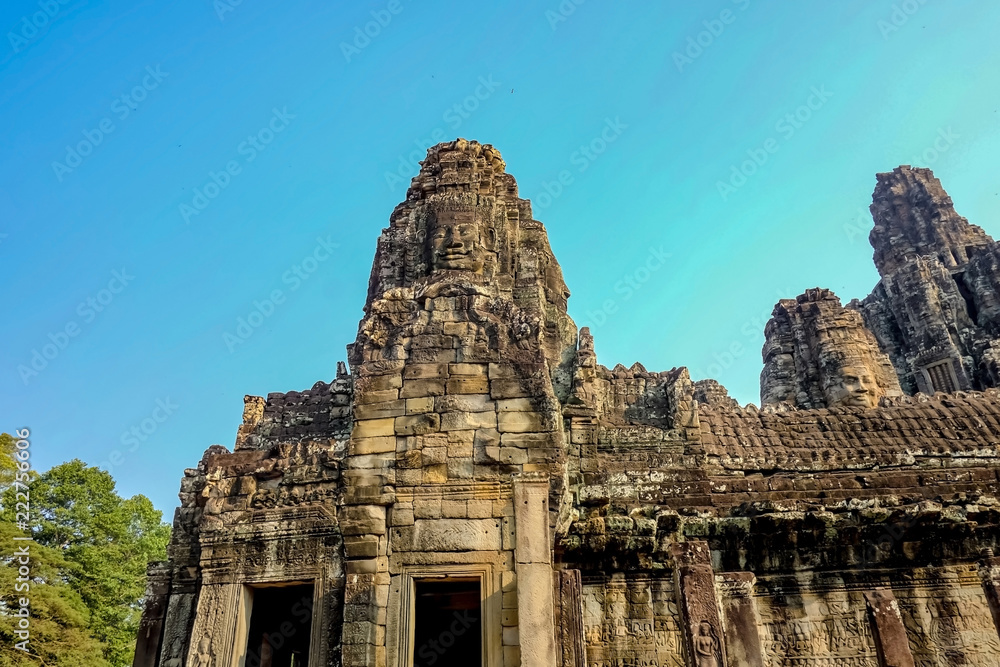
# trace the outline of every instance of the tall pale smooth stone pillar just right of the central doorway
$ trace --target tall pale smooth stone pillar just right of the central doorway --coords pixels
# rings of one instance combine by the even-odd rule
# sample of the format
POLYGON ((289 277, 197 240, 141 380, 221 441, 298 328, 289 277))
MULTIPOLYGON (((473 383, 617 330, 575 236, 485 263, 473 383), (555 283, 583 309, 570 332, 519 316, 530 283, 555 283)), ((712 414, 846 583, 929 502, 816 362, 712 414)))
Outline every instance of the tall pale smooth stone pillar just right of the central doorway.
POLYGON ((521 665, 552 667, 557 662, 548 480, 514 481, 514 540, 521 665))

